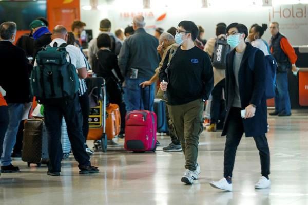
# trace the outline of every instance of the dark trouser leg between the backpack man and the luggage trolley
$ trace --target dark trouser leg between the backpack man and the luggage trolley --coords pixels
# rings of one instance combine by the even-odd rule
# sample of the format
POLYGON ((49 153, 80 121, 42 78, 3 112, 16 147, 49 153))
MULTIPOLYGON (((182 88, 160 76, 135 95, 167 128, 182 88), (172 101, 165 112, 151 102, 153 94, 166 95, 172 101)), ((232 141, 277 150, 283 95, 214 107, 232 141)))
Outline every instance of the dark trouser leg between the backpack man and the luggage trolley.
POLYGON ((84 95, 79 96, 79 102, 83 118, 82 133, 84 136, 84 141, 86 143, 89 133, 89 113, 90 113, 90 102, 87 91, 84 93, 84 95))

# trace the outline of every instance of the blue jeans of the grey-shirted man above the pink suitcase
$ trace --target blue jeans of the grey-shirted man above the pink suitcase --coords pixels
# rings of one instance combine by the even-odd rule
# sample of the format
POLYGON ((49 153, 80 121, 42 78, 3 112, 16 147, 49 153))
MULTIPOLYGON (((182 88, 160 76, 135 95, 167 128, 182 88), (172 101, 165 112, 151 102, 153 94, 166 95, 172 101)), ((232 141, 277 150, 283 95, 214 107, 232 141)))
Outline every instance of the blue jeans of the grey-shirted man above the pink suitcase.
POLYGON ((124 100, 127 111, 140 109, 153 111, 155 85, 152 84, 150 87, 147 86, 144 89, 139 86, 140 83, 147 80, 148 79, 145 78, 125 79, 126 87, 124 89, 124 100))

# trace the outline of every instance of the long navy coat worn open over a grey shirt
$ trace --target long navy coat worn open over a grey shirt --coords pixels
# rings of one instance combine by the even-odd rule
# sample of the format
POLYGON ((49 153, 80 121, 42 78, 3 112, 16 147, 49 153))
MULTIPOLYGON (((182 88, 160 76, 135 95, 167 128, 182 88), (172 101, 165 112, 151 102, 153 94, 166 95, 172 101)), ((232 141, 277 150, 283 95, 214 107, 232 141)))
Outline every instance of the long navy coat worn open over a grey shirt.
MULTIPOLYGON (((246 50, 243 55, 239 70, 239 90, 242 109, 245 109, 249 104, 257 106, 255 116, 249 119, 242 118, 244 132, 246 137, 259 136, 267 132, 267 106, 265 97, 265 61, 264 54, 261 50, 255 53, 253 50, 258 49, 247 43, 246 50), (249 68, 248 59, 255 58, 254 68, 249 68)), ((226 135, 234 100, 235 78, 233 72, 233 60, 235 49, 227 55, 226 63, 226 103, 227 115, 222 132, 222 136, 226 135)))

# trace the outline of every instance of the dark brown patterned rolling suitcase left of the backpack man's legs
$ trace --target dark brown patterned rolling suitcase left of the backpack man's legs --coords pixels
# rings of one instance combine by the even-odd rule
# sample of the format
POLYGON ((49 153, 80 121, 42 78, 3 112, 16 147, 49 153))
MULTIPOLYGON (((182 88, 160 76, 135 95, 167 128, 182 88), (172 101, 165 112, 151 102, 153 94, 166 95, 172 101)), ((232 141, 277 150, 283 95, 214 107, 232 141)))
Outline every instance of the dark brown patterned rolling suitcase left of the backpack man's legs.
POLYGON ((48 136, 44 120, 29 119, 25 123, 22 160, 30 164, 49 164, 48 136))

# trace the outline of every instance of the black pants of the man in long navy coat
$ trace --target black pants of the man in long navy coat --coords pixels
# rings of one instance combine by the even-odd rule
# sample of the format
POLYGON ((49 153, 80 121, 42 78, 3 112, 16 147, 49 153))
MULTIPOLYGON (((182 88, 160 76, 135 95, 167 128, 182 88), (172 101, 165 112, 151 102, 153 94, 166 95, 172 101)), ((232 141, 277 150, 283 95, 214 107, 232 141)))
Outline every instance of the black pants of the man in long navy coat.
MULTIPOLYGON (((244 133, 241 109, 232 107, 227 125, 227 138, 224 150, 224 177, 232 177, 237 147, 244 133)), ((254 136, 261 160, 262 176, 269 175, 269 147, 265 134, 254 136)))

